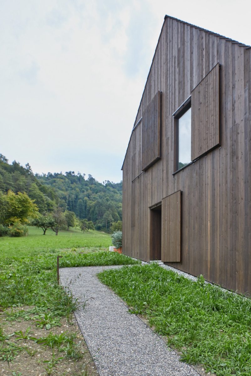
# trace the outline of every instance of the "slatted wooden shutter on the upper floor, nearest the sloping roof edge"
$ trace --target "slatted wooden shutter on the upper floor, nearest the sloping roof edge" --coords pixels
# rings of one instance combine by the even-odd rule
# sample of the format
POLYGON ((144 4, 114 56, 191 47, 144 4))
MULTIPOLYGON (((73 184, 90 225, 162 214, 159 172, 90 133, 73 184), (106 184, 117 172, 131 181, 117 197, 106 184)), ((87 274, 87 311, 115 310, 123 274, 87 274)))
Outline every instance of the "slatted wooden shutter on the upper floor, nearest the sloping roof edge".
POLYGON ((142 171, 160 159, 161 92, 158 91, 142 114, 142 171))

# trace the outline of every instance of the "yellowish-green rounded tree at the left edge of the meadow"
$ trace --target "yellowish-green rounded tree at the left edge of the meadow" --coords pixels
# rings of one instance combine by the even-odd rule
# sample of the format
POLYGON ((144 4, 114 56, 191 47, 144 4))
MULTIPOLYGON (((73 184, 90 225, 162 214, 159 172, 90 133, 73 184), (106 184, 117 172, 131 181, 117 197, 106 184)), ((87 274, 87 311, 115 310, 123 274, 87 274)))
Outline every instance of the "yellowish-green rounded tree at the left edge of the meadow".
POLYGON ((17 221, 29 223, 29 218, 35 218, 38 212, 37 205, 26 193, 15 194, 11 190, 1 194, 0 207, 0 222, 7 226, 13 226, 17 221))

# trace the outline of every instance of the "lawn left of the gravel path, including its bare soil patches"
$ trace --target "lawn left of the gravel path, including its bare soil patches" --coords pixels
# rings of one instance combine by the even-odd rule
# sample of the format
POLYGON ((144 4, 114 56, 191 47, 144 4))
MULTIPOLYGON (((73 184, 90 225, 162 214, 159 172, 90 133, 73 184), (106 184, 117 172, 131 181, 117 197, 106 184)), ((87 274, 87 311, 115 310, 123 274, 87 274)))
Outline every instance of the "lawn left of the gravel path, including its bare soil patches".
POLYGON ((72 312, 79 305, 57 285, 60 267, 133 263, 107 251, 102 232, 29 227, 22 238, 0 238, 0 367, 6 376, 26 374, 94 376, 95 365, 72 312), (81 252, 81 253, 80 253, 81 252))

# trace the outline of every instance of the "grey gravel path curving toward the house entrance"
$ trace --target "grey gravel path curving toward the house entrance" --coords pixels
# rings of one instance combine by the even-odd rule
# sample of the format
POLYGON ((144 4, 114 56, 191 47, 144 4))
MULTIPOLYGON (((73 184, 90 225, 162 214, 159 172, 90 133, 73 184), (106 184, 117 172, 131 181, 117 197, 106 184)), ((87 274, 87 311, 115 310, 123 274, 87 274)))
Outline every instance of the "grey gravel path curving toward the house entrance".
MULTIPOLYGON (((87 300, 75 312, 100 376, 198 376, 96 274, 114 267, 60 269, 62 285, 87 300)), ((115 266, 117 268, 117 266, 115 266)))

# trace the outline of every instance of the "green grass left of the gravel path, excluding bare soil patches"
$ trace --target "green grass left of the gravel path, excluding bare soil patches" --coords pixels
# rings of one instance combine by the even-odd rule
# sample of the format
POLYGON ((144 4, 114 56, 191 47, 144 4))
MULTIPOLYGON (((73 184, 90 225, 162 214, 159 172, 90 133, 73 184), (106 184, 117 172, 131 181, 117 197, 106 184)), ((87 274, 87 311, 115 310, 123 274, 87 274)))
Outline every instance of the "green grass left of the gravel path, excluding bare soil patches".
MULTIPOLYGON (((71 230, 61 231, 56 236, 50 230, 43 235, 36 227, 29 227, 27 237, 0 238, 0 307, 5 312, 5 320, 33 320, 38 328, 47 329, 49 333, 46 337, 32 338, 28 327, 26 331, 15 332, 15 340, 33 339, 65 354, 56 358, 53 353, 50 361, 44 361, 48 375, 62 358, 73 361, 82 358, 80 345, 75 344, 75 334, 50 332, 52 327, 61 325, 62 317, 69 318, 71 312, 85 304, 73 299, 70 290, 57 284, 56 256, 62 256, 60 267, 137 262, 109 252, 110 244, 110 235, 102 232, 71 230), (7 309, 9 307, 12 309, 7 309)), ((0 327, 0 360, 12 362, 17 355, 22 356, 24 350, 29 353, 26 346, 10 342, 0 327)), ((31 356, 33 354, 30 352, 31 356)))

